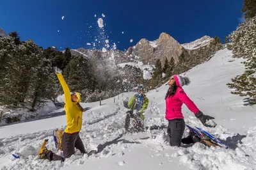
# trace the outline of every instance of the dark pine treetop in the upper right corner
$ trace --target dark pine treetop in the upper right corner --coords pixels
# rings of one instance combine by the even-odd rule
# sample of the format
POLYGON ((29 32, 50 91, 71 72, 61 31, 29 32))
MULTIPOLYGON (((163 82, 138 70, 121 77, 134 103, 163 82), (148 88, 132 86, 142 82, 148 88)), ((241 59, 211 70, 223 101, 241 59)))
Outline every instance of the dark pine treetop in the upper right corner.
POLYGON ((244 0, 242 12, 244 18, 252 19, 256 15, 256 0, 244 0))

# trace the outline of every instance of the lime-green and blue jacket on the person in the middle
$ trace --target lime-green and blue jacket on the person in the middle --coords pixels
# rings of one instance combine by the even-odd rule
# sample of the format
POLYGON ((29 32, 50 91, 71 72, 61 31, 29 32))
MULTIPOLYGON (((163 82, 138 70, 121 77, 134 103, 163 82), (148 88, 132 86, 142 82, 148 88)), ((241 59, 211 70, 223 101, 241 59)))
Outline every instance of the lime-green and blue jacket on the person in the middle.
POLYGON ((128 107, 129 109, 136 109, 137 111, 144 112, 148 107, 148 98, 146 97, 146 95, 140 97, 138 94, 136 94, 131 97, 128 103, 128 107))

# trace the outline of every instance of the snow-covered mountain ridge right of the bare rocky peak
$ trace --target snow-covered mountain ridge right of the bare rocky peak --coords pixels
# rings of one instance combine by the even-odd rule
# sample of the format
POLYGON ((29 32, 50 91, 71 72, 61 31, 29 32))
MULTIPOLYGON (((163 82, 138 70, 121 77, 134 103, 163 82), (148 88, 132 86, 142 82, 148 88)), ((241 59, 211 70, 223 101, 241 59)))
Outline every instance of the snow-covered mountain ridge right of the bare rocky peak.
POLYGON ((203 36, 202 38, 199 38, 198 40, 195 40, 190 43, 184 43, 182 44, 182 47, 187 50, 195 50, 199 49, 200 47, 204 47, 205 45, 209 44, 214 38, 211 38, 210 36, 203 36))

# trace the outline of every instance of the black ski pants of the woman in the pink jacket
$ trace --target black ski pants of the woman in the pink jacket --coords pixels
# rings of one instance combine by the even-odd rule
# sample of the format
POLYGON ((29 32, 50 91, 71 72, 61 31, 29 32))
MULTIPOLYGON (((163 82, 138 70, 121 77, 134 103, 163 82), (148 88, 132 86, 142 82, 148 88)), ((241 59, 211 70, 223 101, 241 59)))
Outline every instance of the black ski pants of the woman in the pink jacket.
POLYGON ((185 130, 184 119, 168 120, 167 132, 170 137, 171 146, 180 146, 182 135, 185 130))

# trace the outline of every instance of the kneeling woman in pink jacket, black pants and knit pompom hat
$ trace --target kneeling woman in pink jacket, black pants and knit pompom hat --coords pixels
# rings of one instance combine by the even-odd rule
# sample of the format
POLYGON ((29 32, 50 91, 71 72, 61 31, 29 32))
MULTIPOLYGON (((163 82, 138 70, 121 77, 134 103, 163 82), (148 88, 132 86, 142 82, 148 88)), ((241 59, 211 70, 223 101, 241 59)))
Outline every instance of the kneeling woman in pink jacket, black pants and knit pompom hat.
POLYGON ((192 100, 186 95, 182 86, 188 85, 190 80, 188 77, 173 75, 168 82, 168 89, 165 102, 166 111, 165 118, 168 120, 168 135, 170 137, 171 146, 180 146, 182 135, 185 130, 184 116, 181 111, 182 104, 185 104, 188 109, 193 112, 205 127, 214 127, 207 124, 207 121, 214 119, 211 116, 204 115, 192 100))

